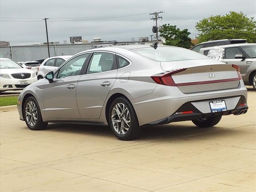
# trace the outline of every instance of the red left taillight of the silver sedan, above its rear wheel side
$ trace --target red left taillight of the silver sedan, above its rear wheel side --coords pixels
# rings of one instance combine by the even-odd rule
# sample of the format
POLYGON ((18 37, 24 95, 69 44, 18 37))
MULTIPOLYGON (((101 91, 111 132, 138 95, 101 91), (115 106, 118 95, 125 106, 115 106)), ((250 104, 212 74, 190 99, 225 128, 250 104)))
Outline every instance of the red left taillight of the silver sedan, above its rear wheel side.
POLYGON ((186 68, 175 70, 175 71, 172 71, 172 72, 167 73, 167 74, 162 74, 162 75, 157 74, 157 75, 151 76, 151 78, 157 84, 168 85, 168 86, 177 86, 175 84, 174 80, 172 79, 172 75, 176 74, 176 73, 179 73, 179 72, 182 72, 184 70, 186 70, 186 68))

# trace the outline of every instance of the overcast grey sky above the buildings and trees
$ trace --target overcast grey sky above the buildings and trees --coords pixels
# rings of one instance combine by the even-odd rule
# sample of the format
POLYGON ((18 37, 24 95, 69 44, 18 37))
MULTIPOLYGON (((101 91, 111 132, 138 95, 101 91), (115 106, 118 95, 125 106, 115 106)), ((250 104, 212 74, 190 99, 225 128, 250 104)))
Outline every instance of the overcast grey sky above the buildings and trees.
MULTIPOLYGON (((179 0, 179 1, 71 1, 71 0, 0 0, 0 40, 11 45, 46 42, 47 20, 50 42, 70 42, 70 36, 82 40, 130 41, 152 35, 154 21, 149 13, 160 12, 160 25, 187 28, 194 38, 196 22, 211 15, 242 11, 256 17, 255 0, 179 0)), ((150 38, 150 37, 149 37, 150 38)))

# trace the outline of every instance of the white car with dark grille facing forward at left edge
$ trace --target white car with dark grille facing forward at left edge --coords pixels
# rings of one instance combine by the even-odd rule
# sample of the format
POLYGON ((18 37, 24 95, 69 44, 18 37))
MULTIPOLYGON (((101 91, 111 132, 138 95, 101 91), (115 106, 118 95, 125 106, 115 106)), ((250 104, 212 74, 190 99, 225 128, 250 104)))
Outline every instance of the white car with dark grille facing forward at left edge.
POLYGON ((36 73, 8 58, 0 58, 0 92, 22 90, 37 81, 36 73))

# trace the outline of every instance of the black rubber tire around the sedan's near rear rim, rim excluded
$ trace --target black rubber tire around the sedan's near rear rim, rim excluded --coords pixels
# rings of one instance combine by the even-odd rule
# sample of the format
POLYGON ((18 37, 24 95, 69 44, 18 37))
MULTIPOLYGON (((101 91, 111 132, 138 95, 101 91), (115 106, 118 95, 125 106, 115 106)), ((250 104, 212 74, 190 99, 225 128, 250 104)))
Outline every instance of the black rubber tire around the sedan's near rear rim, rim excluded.
POLYGON ((138 118, 136 116, 136 112, 135 112, 132 104, 130 103, 130 101, 124 97, 116 98, 110 105, 110 108, 108 111, 108 122, 109 122, 108 124, 109 124, 113 134, 120 140, 133 140, 135 138, 138 138, 138 136, 140 135, 141 129, 140 129, 140 126, 138 123, 138 118), (118 103, 124 104, 130 113, 130 127, 125 134, 118 134, 118 132, 116 132, 116 130, 114 129, 114 126, 112 123, 112 118, 111 118, 112 110, 118 103))

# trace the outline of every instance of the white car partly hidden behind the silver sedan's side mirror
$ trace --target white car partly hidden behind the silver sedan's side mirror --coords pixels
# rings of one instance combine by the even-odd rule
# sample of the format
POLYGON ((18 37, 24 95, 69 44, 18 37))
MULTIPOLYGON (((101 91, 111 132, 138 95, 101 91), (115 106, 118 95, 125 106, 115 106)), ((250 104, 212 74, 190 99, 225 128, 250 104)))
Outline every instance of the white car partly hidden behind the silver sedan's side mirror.
POLYGON ((59 66, 61 66, 66 60, 71 57, 72 55, 64 55, 45 59, 44 62, 42 62, 42 64, 37 68, 36 74, 38 80, 43 79, 48 72, 58 69, 59 66))

